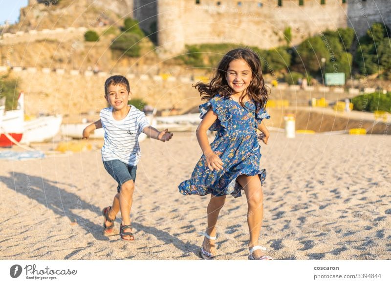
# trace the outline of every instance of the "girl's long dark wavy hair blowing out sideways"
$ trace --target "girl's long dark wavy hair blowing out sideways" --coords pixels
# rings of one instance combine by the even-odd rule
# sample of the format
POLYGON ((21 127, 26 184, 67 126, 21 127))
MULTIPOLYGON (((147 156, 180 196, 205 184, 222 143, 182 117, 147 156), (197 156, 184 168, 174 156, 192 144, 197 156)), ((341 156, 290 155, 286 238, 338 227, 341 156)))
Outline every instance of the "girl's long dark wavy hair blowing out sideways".
MULTIPOLYGON (((265 81, 262 77, 261 61, 259 57, 249 49, 237 48, 229 51, 218 64, 211 81, 207 84, 198 82, 194 85, 194 87, 200 93, 201 100, 209 101, 217 94, 226 98, 231 96, 233 90, 228 86, 226 74, 229 63, 235 59, 243 59, 251 68, 252 79, 246 89, 246 92, 250 100, 256 102, 256 111, 258 112, 261 108, 265 107, 266 102, 269 99, 269 92, 266 90, 265 81)), ((241 98, 240 104, 245 107, 243 104, 243 98, 241 98)))

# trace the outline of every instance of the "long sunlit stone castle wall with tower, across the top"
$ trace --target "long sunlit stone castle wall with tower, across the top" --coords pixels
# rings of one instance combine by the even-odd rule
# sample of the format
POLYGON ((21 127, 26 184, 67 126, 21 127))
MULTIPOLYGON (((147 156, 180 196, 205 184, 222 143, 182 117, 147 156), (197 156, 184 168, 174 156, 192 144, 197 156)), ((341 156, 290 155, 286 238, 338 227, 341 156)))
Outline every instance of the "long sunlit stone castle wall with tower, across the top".
MULTIPOLYGON (((362 36, 375 21, 391 24, 389 0, 159 0, 158 43, 163 54, 178 54, 186 44, 238 43, 269 49, 291 45, 326 29, 353 27, 362 36)), ((141 18, 139 18, 140 20, 141 18)))

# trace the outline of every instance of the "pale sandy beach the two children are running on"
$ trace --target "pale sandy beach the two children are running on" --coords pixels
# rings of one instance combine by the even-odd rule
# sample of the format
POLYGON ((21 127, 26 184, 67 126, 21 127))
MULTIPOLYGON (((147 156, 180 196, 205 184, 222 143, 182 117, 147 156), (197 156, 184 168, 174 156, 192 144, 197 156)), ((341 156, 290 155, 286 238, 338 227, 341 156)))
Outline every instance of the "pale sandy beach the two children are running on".
MULTIPOLYGON (((91 141, 91 143, 94 143, 91 141)), ((48 150, 51 144, 36 145, 48 150)), ((18 150, 15 147, 15 150, 18 150)), ((209 196, 177 185, 201 150, 194 133, 141 143, 131 220, 135 241, 104 236, 101 210, 116 183, 100 150, 43 160, 0 161, 1 260, 197 260, 209 196)), ((260 244, 278 260, 391 259, 391 137, 272 132, 261 148, 260 244)), ((244 195, 244 194, 243 194, 244 195)), ((218 260, 246 260, 245 197, 232 196, 217 223, 218 260)))

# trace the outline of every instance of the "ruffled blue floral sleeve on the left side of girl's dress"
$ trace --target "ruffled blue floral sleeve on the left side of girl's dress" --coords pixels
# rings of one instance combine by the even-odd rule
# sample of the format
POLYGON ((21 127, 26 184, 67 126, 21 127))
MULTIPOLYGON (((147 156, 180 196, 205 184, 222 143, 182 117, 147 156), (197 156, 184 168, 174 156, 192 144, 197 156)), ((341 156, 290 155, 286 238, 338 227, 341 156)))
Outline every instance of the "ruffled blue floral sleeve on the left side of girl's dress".
POLYGON ((229 116, 227 110, 225 109, 224 97, 216 96, 213 97, 210 101, 205 102, 199 106, 201 114, 199 115, 200 119, 203 119, 206 113, 212 109, 217 115, 217 120, 209 127, 211 131, 217 131, 220 126, 227 128, 229 116))

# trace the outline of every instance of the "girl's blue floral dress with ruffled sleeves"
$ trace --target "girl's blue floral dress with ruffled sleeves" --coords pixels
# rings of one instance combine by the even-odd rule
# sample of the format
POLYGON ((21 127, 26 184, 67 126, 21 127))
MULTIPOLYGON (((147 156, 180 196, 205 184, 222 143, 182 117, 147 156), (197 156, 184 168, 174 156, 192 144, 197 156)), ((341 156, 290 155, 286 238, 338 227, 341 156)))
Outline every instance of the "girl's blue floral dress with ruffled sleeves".
POLYGON ((179 184, 183 195, 215 196, 231 194, 241 196, 243 187, 236 181, 240 175, 259 175, 261 183, 266 178, 266 170, 260 169, 260 145, 256 128, 269 114, 261 108, 256 112, 256 104, 246 101, 243 108, 239 102, 217 95, 201 104, 200 118, 204 118, 209 109, 217 114, 217 120, 209 130, 217 131, 211 148, 223 162, 223 170, 210 170, 206 157, 202 155, 197 162, 190 180, 179 184))

